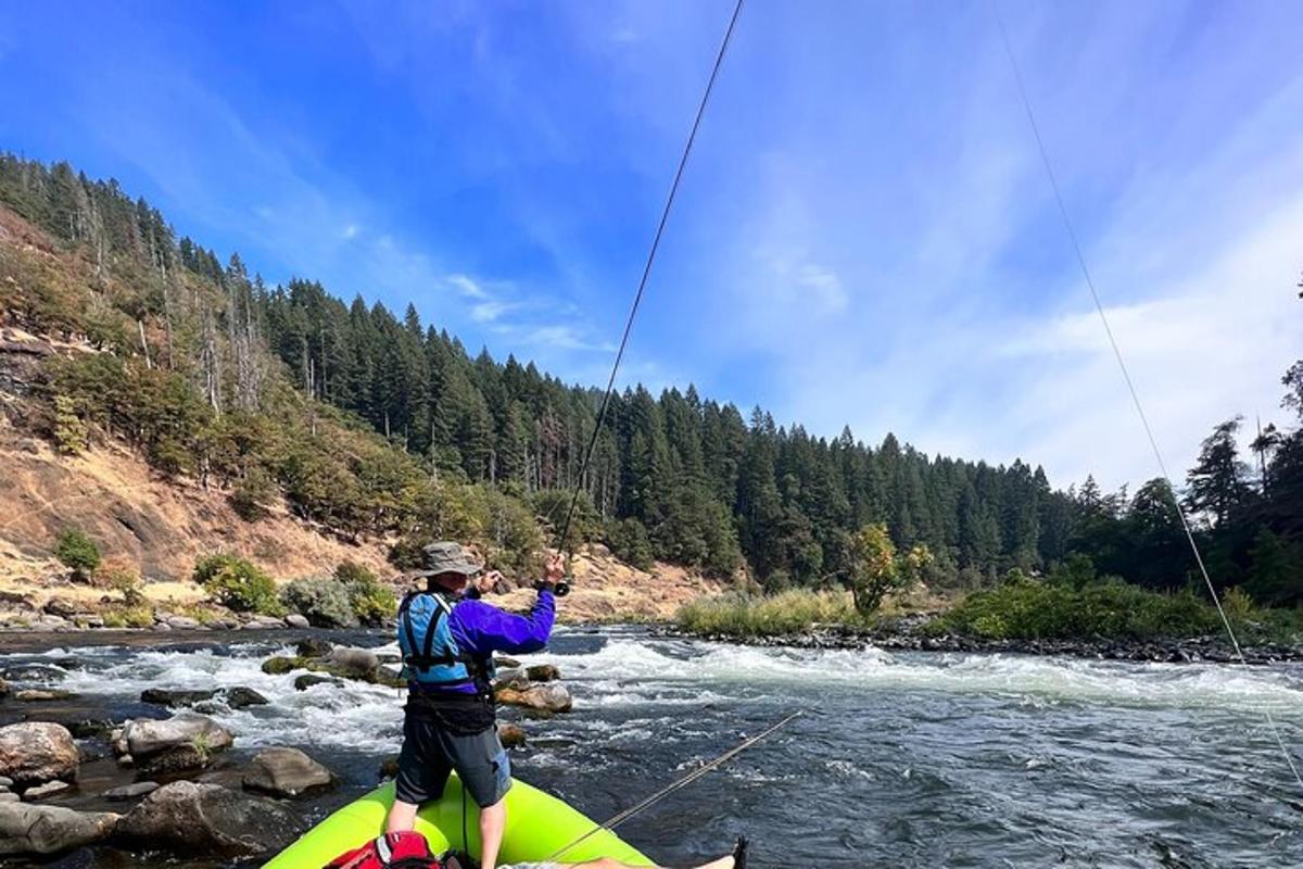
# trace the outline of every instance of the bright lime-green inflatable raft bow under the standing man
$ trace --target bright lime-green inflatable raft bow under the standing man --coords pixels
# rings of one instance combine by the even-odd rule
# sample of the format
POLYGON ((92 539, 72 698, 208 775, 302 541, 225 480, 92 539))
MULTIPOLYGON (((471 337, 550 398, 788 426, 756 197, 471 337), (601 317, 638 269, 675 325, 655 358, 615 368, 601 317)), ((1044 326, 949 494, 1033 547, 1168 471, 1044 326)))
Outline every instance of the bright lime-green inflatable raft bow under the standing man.
MULTIPOLYGON (((384 833, 384 818, 394 803, 394 786, 386 784, 318 823, 298 842, 281 851, 263 869, 321 869, 327 862, 384 833)), ((507 833, 499 862, 546 860, 571 844, 597 823, 555 796, 515 780, 507 792, 507 833)), ((442 853, 463 849, 461 783, 453 774, 437 803, 421 806, 417 831, 425 834, 430 849, 442 853)), ((480 855, 480 809, 468 800, 465 849, 480 855)), ((653 862, 610 830, 598 830, 560 859, 567 862, 614 857, 635 866, 653 862)))

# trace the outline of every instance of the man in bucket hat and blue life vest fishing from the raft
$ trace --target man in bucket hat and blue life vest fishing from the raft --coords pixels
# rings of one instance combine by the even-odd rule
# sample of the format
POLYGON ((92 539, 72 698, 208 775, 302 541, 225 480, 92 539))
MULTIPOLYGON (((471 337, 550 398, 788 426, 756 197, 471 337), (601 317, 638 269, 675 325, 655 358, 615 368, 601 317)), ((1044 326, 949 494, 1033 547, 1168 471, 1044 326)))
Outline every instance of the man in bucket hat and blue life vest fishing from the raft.
POLYGON ((457 771, 461 786, 480 806, 481 865, 494 869, 507 825, 503 799, 511 788, 511 761, 498 739, 493 700, 493 654, 528 654, 547 645, 556 616, 554 589, 566 572, 562 555, 547 559, 538 599, 525 615, 504 612, 466 595, 500 580, 459 543, 425 547, 426 589, 408 594, 399 607, 399 648, 408 680, 403 750, 395 782, 388 833, 405 833, 417 808, 438 800, 457 771))

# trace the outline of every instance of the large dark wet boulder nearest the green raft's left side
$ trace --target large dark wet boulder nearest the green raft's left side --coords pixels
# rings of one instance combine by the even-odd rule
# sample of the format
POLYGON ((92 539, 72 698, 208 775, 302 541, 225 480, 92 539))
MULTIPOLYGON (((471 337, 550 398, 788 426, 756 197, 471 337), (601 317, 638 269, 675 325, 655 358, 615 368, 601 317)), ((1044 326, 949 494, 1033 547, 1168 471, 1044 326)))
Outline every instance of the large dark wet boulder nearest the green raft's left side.
POLYGON ((194 782, 164 784, 117 823, 117 835, 128 840, 232 857, 279 851, 298 830, 297 819, 271 800, 194 782))

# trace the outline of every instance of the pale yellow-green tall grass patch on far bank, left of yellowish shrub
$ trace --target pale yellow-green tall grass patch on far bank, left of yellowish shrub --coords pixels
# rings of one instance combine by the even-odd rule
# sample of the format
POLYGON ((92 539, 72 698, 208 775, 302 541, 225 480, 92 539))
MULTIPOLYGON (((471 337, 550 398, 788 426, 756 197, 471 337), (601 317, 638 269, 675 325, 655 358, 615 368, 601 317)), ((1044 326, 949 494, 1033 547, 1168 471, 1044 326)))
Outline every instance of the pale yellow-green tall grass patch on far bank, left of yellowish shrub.
POLYGON ((739 638, 803 633, 820 624, 866 624, 848 594, 804 589, 773 595, 700 598, 683 605, 675 618, 680 628, 692 633, 739 638))

